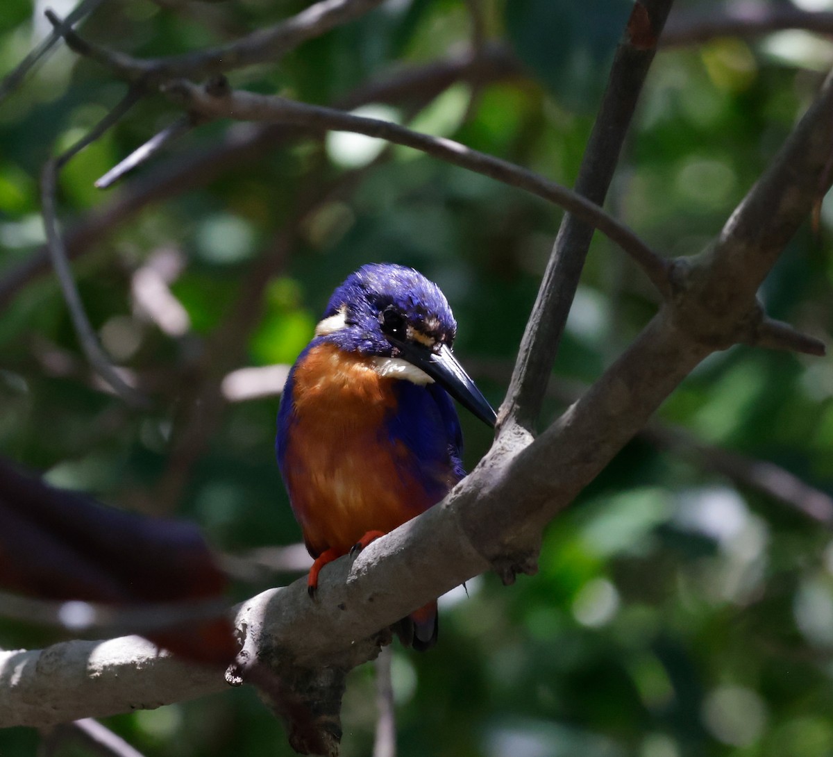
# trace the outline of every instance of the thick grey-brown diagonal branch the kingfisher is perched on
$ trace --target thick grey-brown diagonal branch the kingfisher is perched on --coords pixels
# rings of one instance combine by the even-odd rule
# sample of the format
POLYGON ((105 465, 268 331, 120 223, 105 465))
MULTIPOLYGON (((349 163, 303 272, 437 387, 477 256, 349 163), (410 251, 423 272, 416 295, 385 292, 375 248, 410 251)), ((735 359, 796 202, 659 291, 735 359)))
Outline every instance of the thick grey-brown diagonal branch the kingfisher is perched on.
MULTIPOLYGON (((490 566, 507 578, 534 570, 546 522, 646 424, 702 358, 748 335, 756 290, 816 203, 831 145, 829 77, 720 238, 691 261, 676 263, 671 301, 601 379, 538 439, 530 442, 528 434, 509 429, 441 504, 377 539, 355 559, 346 556, 328 565, 317 601, 309 599, 306 581, 299 579, 245 603, 237 614, 242 656, 249 661, 243 673, 268 669, 289 684, 314 681, 305 690, 332 706, 326 694, 340 696, 343 672, 372 659, 389 640, 379 629, 490 566)), ((217 690, 218 684, 206 671, 149 654, 136 639, 4 653, 0 725, 110 714, 187 699, 217 690)))

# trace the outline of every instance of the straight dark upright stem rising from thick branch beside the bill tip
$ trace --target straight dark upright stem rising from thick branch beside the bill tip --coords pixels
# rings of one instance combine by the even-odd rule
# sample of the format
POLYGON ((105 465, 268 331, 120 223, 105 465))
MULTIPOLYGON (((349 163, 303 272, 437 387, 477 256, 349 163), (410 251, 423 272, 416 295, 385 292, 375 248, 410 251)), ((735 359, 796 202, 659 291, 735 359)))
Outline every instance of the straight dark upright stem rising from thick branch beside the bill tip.
MULTIPOLYGON (((587 202, 601 205, 605 201, 637 99, 656 53, 656 38, 672 2, 644 0, 634 4, 626 36, 616 50, 607 89, 576 180, 576 192, 589 198, 587 202)), ((568 209, 570 214, 561 221, 531 318, 526 324, 516 370, 498 415, 499 423, 511 419, 522 428, 531 429, 541 412, 546 382, 590 248, 593 225, 596 225, 589 225, 590 219, 586 215, 568 209)), ((597 228, 604 231, 601 226, 597 228)), ((667 296, 667 262, 643 251, 640 251, 640 258, 638 262, 651 282, 667 296)))

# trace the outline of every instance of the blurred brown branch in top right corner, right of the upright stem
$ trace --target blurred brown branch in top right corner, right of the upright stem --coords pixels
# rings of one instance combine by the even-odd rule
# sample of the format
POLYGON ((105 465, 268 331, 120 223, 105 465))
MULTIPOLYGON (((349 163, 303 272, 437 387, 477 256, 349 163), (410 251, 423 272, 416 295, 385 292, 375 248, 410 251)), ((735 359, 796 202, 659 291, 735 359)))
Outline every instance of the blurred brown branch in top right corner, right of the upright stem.
POLYGON ((708 13, 674 13, 662 33, 660 47, 681 48, 721 37, 750 39, 785 29, 833 35, 833 13, 804 11, 791 3, 743 3, 708 13))

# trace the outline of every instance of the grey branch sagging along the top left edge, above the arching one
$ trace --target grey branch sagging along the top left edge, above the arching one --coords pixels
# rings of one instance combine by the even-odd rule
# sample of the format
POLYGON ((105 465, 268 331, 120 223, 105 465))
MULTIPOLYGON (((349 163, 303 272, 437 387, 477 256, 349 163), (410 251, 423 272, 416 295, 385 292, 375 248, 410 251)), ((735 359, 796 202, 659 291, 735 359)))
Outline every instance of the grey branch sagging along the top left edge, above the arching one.
MULTIPOLYGON (((276 61, 298 45, 352 21, 381 5, 383 0, 321 0, 292 18, 232 43, 168 58, 141 60, 88 43, 72 31, 64 33, 67 45, 79 55, 111 68, 129 82, 154 87, 170 78, 199 78, 255 63, 276 61)), ((52 17, 57 17, 52 14, 52 17)), ((52 23, 56 23, 50 18, 52 23)), ((62 25, 66 26, 66 25, 62 25)))

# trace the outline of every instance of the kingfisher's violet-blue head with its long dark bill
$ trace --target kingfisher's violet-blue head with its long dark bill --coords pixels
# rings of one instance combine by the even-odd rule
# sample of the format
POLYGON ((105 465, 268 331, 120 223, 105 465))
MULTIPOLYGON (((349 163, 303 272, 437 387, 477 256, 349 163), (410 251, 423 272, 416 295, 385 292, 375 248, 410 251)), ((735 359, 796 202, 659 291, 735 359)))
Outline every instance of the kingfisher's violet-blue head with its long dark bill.
MULTIPOLYGON (((495 411, 451 353, 457 324, 440 288, 413 268, 369 263, 336 289, 316 336, 345 352, 407 362, 487 424, 495 411)), ((397 368, 387 365, 386 368, 397 368)))

